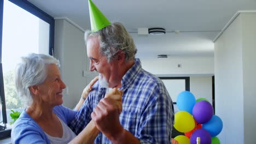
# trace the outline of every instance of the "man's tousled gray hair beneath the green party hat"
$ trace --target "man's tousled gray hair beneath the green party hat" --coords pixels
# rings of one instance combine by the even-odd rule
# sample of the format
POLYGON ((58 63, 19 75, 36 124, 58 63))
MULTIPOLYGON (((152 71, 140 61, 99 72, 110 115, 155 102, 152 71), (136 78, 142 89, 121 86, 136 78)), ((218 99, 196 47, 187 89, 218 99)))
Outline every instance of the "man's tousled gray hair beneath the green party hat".
POLYGON ((126 61, 135 59, 137 49, 133 39, 120 22, 114 22, 94 33, 88 30, 84 36, 85 43, 91 37, 97 37, 100 40, 100 53, 107 57, 108 62, 116 58, 115 53, 119 50, 125 53, 126 61))

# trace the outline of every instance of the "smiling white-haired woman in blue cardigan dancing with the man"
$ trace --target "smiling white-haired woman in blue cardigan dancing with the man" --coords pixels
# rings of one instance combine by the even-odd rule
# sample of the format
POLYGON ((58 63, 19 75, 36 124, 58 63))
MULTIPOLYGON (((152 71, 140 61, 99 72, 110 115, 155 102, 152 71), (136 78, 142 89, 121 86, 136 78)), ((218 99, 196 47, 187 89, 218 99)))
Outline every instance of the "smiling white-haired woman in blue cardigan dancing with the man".
MULTIPOLYGON (((59 65, 54 57, 35 53, 22 57, 17 65, 16 89, 27 108, 11 130, 13 143, 92 143, 97 136, 92 121, 78 136, 68 127, 97 78, 86 86, 75 110, 68 109, 62 106, 62 90, 66 85, 61 80, 59 65)), ((114 101, 113 107, 120 111, 121 95, 114 89, 106 96, 114 98, 105 98, 114 101)))

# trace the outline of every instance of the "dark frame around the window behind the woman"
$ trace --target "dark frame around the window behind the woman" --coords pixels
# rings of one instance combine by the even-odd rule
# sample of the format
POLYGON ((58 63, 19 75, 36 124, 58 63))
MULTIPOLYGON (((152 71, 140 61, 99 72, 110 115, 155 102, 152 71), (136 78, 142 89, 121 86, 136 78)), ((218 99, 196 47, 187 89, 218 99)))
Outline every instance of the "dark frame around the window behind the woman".
MULTIPOLYGON (((8 0, 20 8, 28 11, 28 13, 37 16, 39 19, 49 23, 49 55, 54 56, 54 28, 55 28, 55 21, 54 17, 50 16, 49 14, 45 13, 43 10, 39 9, 32 3, 28 2, 27 0, 8 0)), ((2 69, 2 37, 3 37, 3 5, 4 0, 0 0, 0 99, 2 104, 2 114, 3 114, 3 123, 7 123, 7 114, 6 114, 6 107, 5 107, 5 96, 4 96, 4 85, 3 85, 3 69, 2 69)), ((10 137, 11 129, 0 129, 0 140, 10 137)))

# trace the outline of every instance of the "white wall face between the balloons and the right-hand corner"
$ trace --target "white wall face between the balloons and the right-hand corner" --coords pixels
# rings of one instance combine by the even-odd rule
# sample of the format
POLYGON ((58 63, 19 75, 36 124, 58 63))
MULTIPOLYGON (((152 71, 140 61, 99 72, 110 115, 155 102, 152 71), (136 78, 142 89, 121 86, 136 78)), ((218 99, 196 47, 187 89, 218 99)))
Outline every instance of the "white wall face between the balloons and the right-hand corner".
POLYGON ((231 23, 228 29, 216 41, 214 49, 215 107, 216 115, 223 121, 223 130, 218 135, 221 143, 243 143, 243 80, 240 19, 240 17, 237 17, 231 23))

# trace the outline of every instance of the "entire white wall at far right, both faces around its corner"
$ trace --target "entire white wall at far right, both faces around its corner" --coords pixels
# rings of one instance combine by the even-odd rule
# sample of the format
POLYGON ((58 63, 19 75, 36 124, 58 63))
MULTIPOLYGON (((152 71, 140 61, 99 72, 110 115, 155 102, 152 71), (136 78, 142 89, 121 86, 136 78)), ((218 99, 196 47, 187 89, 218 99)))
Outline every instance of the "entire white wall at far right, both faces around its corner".
POLYGON ((215 43, 216 115, 221 143, 256 143, 256 14, 240 14, 215 43), (254 66, 253 66, 254 65, 254 66))

